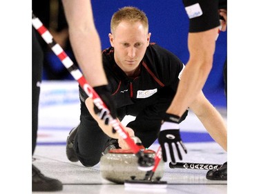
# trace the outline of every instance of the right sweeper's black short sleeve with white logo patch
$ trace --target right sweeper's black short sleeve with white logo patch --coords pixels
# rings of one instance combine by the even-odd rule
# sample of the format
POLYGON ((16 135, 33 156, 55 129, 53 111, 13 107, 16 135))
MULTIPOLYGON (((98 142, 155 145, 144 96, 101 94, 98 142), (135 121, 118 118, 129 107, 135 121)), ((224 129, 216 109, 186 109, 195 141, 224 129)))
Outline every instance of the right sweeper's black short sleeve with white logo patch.
POLYGON ((220 26, 218 0, 182 0, 189 17, 189 32, 203 32, 220 26))

